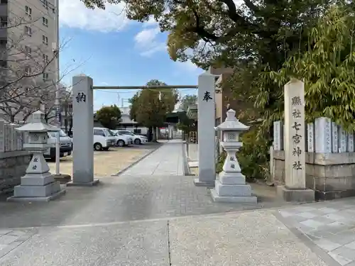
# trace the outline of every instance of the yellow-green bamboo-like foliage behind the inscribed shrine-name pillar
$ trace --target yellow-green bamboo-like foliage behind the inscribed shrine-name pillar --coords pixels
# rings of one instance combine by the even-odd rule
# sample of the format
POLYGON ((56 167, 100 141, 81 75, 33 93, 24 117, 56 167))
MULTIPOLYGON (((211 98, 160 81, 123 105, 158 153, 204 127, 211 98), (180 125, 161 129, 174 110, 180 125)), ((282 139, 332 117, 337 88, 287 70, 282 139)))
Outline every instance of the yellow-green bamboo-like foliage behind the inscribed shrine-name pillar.
MULTIPOLYGON (((303 80, 307 120, 326 116, 348 131, 355 131, 354 26, 354 13, 346 6, 332 6, 312 29, 307 51, 290 57, 282 69, 265 77, 280 90, 290 78, 303 80)), ((259 96, 261 103, 263 97, 259 96)), ((283 106, 276 113, 266 120, 268 124, 283 118, 283 106)))

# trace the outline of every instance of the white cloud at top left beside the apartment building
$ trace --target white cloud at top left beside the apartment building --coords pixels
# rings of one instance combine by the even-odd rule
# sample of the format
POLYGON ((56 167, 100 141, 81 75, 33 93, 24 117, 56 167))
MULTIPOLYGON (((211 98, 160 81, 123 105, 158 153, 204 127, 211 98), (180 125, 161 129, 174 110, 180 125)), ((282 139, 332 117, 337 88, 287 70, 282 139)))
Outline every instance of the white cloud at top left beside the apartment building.
POLYGON ((60 26, 89 31, 120 31, 129 23, 124 4, 107 4, 106 9, 87 9, 79 0, 59 0, 60 26))

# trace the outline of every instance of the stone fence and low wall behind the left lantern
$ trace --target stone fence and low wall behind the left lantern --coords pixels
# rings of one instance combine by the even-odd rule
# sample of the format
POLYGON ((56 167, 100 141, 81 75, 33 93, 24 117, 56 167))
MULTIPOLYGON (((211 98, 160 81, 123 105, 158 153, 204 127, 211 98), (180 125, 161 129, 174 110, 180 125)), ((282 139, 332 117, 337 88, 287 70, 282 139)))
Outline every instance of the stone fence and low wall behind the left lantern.
POLYGON ((19 126, 0 120, 0 194, 20 184, 31 160, 23 150, 23 133, 15 130, 19 126))

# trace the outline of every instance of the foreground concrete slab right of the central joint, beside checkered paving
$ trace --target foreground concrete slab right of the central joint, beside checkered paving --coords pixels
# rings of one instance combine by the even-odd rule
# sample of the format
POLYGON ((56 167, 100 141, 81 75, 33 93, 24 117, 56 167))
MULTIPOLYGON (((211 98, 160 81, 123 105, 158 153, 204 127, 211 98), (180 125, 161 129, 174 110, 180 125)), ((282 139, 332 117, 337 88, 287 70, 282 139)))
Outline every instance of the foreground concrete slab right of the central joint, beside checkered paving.
POLYGON ((272 211, 169 222, 173 266, 325 266, 272 211))

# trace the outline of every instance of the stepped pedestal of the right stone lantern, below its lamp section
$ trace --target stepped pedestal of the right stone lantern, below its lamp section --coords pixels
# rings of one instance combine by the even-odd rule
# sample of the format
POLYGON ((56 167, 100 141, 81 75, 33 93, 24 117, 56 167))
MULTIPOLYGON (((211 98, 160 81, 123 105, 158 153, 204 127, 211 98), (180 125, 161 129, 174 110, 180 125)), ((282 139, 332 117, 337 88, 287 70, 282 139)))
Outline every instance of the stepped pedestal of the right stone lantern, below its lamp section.
POLYGON ((256 196, 251 195, 251 186, 246 184, 245 177, 241 174, 236 152, 242 143, 221 143, 227 153, 223 171, 219 173, 214 189, 211 189, 212 199, 223 202, 256 203, 256 196))

